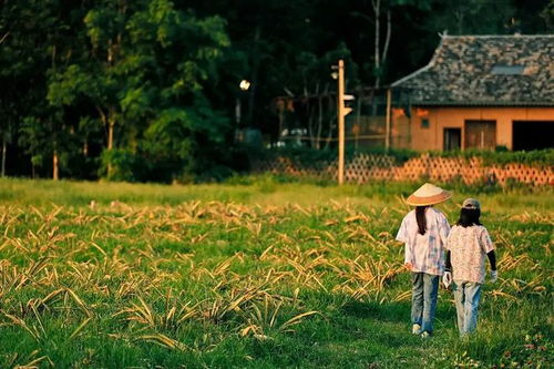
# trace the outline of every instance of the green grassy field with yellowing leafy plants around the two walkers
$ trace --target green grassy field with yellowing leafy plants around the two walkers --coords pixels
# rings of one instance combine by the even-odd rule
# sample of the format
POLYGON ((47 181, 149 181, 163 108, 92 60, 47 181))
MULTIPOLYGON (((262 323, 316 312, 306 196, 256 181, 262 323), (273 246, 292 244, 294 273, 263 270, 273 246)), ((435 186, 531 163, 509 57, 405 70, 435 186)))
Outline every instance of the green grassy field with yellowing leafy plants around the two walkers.
POLYGON ((393 240, 417 184, 0 181, 0 367, 547 368, 554 193, 471 195, 497 247, 479 332, 410 335, 393 240), (240 184, 239 184, 240 183, 240 184))

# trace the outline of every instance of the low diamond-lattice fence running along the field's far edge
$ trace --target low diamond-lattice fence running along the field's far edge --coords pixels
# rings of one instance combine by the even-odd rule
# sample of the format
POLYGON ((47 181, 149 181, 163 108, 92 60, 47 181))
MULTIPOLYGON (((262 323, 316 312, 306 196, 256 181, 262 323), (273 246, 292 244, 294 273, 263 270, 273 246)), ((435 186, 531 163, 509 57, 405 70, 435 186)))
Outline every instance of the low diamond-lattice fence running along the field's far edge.
MULTIPOLYGON (((253 162, 256 173, 274 173, 293 176, 308 176, 320 180, 337 177, 337 161, 301 163, 290 157, 253 162)), ((497 183, 505 186, 509 182, 529 185, 554 185, 553 166, 530 166, 520 163, 485 165, 481 157, 440 157, 422 154, 398 164, 393 156, 357 154, 345 165, 345 180, 348 183, 363 184, 372 180, 388 181, 462 181, 465 184, 497 183)))

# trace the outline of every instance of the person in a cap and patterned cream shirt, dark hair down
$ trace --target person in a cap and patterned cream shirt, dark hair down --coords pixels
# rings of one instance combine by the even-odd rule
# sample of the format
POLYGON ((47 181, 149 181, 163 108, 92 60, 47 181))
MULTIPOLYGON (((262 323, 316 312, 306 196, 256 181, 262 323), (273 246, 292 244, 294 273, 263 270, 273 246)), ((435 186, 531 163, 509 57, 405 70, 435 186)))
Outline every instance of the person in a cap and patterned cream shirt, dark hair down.
POLYGON ((458 329, 460 336, 473 332, 478 327, 478 307, 481 286, 485 279, 485 255, 491 263, 491 283, 496 281, 496 256, 489 232, 479 222, 481 204, 475 198, 466 198, 460 211, 460 219, 452 227, 447 240, 447 273, 443 283, 452 281, 458 329))

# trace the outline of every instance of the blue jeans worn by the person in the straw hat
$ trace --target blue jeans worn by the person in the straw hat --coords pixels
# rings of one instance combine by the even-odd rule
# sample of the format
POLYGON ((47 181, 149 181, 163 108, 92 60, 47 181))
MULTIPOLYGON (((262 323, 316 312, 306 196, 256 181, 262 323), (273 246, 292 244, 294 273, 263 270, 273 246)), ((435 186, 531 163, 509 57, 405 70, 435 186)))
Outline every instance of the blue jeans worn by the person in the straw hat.
POLYGON ((412 324, 420 325, 421 332, 433 331, 438 291, 439 276, 412 273, 412 324))

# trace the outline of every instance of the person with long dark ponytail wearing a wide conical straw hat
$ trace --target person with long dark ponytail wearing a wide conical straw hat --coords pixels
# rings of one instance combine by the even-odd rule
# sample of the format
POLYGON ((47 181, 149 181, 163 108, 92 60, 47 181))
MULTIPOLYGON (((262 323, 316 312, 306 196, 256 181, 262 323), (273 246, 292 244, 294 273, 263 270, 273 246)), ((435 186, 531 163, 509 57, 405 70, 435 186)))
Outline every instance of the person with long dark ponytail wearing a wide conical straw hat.
POLYGON ((412 273, 412 334, 427 338, 433 331, 439 278, 444 273, 444 244, 450 226, 433 205, 451 197, 450 193, 425 183, 407 203, 416 206, 402 219, 397 239, 406 244, 404 265, 412 273))

